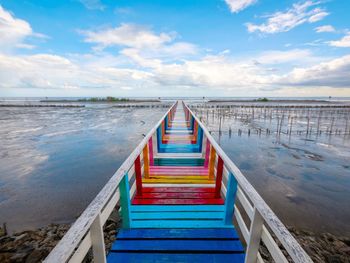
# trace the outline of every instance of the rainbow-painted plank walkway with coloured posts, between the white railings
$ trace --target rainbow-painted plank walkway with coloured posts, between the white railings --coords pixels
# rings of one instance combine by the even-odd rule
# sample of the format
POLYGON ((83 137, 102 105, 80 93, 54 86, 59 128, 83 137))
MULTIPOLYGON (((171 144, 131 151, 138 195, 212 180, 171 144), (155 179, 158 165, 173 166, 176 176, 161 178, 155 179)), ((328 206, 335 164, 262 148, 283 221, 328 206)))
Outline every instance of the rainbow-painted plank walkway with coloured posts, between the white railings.
POLYGON ((243 246, 225 220, 233 203, 225 204, 221 195, 223 163, 215 163, 214 148, 203 143, 203 131, 184 104, 157 129, 156 154, 150 148, 152 140, 143 151, 143 176, 136 173, 130 223, 107 261, 244 262, 243 246))

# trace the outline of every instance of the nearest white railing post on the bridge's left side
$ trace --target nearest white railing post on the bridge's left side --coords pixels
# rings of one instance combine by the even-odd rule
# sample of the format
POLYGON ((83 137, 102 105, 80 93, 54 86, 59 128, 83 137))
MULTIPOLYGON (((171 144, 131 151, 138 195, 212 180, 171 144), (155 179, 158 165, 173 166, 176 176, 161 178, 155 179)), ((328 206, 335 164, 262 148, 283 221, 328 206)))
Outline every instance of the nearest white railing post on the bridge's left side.
POLYGON ((106 262, 105 241, 100 214, 96 217, 90 228, 93 259, 96 263, 106 262))

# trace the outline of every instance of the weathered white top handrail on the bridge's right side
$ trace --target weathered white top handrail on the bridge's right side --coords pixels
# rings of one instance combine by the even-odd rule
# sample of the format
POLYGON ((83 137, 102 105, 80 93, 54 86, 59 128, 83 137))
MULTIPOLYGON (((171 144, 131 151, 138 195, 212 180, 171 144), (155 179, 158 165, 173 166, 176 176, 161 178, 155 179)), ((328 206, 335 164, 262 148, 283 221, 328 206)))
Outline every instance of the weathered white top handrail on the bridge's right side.
POLYGON ((222 158, 227 169, 232 173, 238 182, 240 189, 249 197, 252 201, 256 212, 258 212, 264 222, 270 227, 272 232, 276 235, 277 239, 282 243, 288 254, 291 256, 294 262, 313 262, 309 255, 304 251, 296 239, 290 234, 288 229, 279 220, 271 208, 266 204, 254 187, 248 182, 238 167, 231 161, 221 147, 216 143, 214 138, 209 133, 208 129, 197 118, 197 116, 191 111, 191 109, 184 103, 185 107, 189 110, 193 118, 198 122, 203 129, 204 135, 209 140, 210 144, 216 150, 218 156, 222 158))

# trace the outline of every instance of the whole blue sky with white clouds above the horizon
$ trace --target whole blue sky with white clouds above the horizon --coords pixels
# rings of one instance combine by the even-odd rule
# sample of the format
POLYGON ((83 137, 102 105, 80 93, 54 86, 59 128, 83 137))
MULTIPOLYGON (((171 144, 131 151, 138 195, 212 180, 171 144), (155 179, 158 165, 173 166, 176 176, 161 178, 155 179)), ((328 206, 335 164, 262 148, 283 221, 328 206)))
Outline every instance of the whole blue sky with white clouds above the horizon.
POLYGON ((350 1, 0 0, 0 97, 350 97, 350 1))

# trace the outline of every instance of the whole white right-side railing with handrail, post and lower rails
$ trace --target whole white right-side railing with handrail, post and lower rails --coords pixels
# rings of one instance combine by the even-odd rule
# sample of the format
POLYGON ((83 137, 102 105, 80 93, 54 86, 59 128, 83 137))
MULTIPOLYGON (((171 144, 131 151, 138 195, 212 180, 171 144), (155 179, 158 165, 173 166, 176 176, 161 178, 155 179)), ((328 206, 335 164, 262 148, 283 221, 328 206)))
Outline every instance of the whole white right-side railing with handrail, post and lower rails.
POLYGON ((216 151, 216 163, 219 157, 224 162, 222 193, 226 199, 228 198, 226 193, 230 176, 233 176, 237 181, 238 186, 234 201, 234 218, 247 244, 245 262, 264 262, 258 252, 260 241, 265 244, 275 262, 289 262, 268 229, 272 231, 276 239, 283 245, 293 262, 313 262, 271 208, 248 182, 242 172, 216 143, 208 129, 193 114, 189 107, 186 107, 203 129, 204 137, 207 138, 212 147, 214 147, 216 151), (237 206, 237 201, 241 204, 241 207, 243 207, 244 212, 249 218, 250 224, 248 224, 248 226, 243 219, 242 211, 240 211, 237 206))

